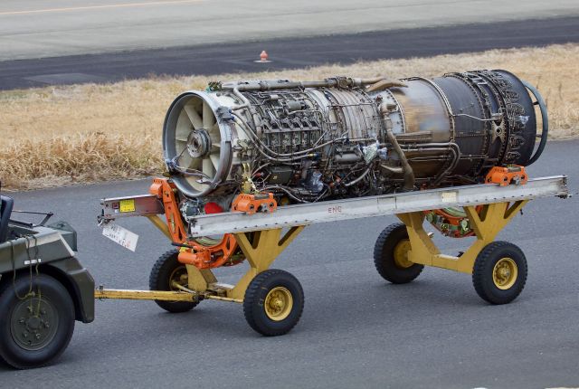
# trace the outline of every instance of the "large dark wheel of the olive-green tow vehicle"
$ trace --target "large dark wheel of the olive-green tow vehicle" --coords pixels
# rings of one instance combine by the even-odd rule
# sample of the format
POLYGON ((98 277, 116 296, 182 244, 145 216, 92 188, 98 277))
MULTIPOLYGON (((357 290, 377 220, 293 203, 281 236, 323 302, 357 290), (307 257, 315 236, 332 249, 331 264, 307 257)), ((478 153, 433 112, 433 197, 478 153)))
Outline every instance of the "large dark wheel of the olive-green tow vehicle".
POLYGON ((50 276, 20 276, 14 288, 10 282, 0 294, 0 312, 0 356, 15 368, 48 365, 71 341, 74 303, 50 276))

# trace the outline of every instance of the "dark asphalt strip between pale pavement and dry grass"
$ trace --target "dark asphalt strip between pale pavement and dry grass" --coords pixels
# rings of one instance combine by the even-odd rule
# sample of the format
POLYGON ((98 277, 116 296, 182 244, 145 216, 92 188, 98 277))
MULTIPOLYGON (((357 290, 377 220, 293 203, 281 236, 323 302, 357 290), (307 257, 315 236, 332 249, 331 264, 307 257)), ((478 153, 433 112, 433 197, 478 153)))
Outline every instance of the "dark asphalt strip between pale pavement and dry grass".
MULTIPOLYGON (((579 7, 577 10, 579 11, 579 7)), ((486 24, 458 24, 282 39, 261 38, 254 42, 243 43, 212 43, 5 61, 0 62, 0 90, 51 84, 119 81, 152 74, 267 71, 326 63, 351 63, 579 42, 579 16, 498 23, 489 23, 489 20, 495 19, 486 20, 486 24), (272 62, 255 62, 262 50, 267 50, 272 62)), ((0 37, 0 47, 2 44, 0 37)), ((0 50, 0 58, 1 52, 0 50)))

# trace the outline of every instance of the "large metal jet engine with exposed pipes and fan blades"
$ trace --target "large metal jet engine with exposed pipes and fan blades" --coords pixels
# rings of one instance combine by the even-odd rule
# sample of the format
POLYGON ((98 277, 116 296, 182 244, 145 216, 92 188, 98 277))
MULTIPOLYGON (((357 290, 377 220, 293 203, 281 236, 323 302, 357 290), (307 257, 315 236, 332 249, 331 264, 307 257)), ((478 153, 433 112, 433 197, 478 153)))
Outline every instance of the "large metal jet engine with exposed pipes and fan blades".
POLYGON ((171 104, 163 148, 187 220, 250 190, 288 204, 479 183, 493 166, 535 162, 546 132, 532 86, 508 71, 469 71, 211 82, 171 104))

